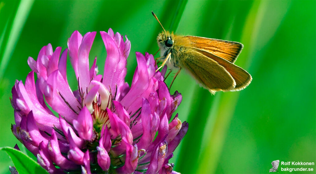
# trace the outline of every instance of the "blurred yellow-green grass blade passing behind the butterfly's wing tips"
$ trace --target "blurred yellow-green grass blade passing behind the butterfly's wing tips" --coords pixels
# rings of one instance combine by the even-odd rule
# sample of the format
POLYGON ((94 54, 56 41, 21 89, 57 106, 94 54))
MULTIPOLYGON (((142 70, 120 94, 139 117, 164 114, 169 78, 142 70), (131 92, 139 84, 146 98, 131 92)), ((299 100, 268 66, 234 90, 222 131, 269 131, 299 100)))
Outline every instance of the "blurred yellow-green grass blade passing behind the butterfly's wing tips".
MULTIPOLYGON (((275 35, 277 27, 272 27, 269 30, 269 37, 260 38, 262 35, 261 29, 262 20, 264 20, 265 13, 267 13, 269 8, 269 2, 267 1, 255 1, 252 5, 252 8, 246 18, 246 23, 244 26, 244 31, 242 32, 241 43, 248 45, 248 48, 243 50, 243 54, 239 57, 238 65, 245 67, 250 64, 253 53, 257 50, 263 49, 264 45, 267 44, 275 35), (257 14, 257 15, 255 15, 257 14), (257 40, 261 40, 261 45, 255 45, 257 40)), ((275 22, 271 23, 280 23, 280 20, 284 18, 286 14, 286 8, 279 9, 279 16, 274 16, 275 22)), ((266 31, 266 30, 265 30, 266 31)), ((267 31, 266 31, 267 32, 267 31)), ((256 60, 257 62, 260 60, 256 60)), ((234 93, 223 93, 222 97, 218 100, 218 106, 215 108, 212 107, 212 113, 210 117, 215 118, 212 120, 213 126, 211 130, 205 130, 204 135, 210 134, 207 137, 204 137, 204 143, 206 144, 204 150, 201 153, 199 161, 203 161, 204 165, 199 167, 197 173, 216 173, 216 168, 223 150, 223 145, 229 128, 229 124, 233 117, 235 107, 239 98, 240 92, 234 93)), ((209 126, 206 126, 209 127, 209 126)))

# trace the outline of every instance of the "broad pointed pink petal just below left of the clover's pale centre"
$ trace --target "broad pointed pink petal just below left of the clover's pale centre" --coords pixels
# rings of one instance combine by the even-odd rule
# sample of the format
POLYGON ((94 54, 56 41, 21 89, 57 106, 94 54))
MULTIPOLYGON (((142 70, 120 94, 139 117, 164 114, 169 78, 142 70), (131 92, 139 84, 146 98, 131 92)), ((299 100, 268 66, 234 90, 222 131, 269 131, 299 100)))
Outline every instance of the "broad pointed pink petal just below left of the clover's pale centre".
POLYGON ((87 107, 83 107, 78 114, 77 120, 72 121, 75 129, 81 138, 90 140, 93 134, 93 121, 87 107))

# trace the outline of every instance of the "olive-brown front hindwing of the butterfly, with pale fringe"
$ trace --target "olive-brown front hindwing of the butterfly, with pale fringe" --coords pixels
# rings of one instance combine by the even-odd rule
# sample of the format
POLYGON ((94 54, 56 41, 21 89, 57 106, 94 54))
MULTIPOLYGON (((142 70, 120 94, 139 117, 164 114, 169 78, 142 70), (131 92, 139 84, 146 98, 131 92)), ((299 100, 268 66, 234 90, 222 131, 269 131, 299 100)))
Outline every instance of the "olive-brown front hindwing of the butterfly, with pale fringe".
POLYGON ((201 53, 185 54, 182 59, 182 67, 188 70, 212 94, 216 91, 230 91, 235 88, 234 78, 213 59, 201 53))

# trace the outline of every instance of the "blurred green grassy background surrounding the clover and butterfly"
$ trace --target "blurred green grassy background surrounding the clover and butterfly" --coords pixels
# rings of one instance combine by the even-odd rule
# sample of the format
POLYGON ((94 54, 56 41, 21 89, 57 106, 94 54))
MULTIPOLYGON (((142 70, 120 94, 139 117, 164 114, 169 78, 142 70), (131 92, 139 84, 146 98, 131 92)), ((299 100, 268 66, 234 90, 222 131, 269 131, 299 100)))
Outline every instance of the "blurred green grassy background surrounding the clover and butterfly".
MULTIPOLYGON (((182 93, 177 112, 190 126, 171 160, 176 171, 268 173, 273 160, 316 162, 315 1, 2 1, 0 8, 0 147, 22 147, 10 130, 9 97, 15 79, 24 82, 30 71, 28 56, 37 59, 48 43, 65 49, 74 30, 111 27, 131 40, 131 84, 135 51, 158 50, 155 38, 162 29, 153 10, 177 34, 244 44, 235 64, 253 78, 245 90, 212 96, 185 71, 179 74, 171 92, 182 93)), ((103 74, 106 51, 99 33, 91 62, 96 55, 103 74)), ((70 63, 67 71, 70 82, 70 63)), ((13 163, 0 154, 0 173, 9 173, 13 163)), ((289 173, 280 167, 293 166, 279 165, 280 173, 289 173)), ((310 167, 313 172, 301 173, 315 173, 310 167)))

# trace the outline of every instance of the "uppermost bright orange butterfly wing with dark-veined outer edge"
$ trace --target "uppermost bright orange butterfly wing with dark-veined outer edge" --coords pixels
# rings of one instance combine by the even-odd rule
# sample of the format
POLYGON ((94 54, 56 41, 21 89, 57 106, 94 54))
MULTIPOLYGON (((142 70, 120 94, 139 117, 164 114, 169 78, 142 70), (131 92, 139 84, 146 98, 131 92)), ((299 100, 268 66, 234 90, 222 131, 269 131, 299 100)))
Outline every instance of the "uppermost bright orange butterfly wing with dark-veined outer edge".
POLYGON ((191 47, 204 50, 216 56, 234 63, 240 54, 243 44, 239 42, 226 41, 220 39, 211 39, 197 36, 184 36, 188 39, 191 47))

